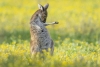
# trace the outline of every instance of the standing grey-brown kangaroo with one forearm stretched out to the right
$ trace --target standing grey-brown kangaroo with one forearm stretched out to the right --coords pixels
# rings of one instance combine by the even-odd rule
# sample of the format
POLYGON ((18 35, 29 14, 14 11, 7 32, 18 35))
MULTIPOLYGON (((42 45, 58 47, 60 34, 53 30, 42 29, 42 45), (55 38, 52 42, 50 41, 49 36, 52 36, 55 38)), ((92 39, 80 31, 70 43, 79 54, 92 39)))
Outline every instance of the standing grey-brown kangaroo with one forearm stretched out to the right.
POLYGON ((45 26, 57 24, 58 22, 46 23, 48 6, 49 4, 45 6, 38 4, 39 9, 32 15, 30 20, 32 55, 36 55, 37 52, 42 53, 44 49, 48 51, 48 48, 50 48, 50 54, 53 55, 54 43, 45 26))

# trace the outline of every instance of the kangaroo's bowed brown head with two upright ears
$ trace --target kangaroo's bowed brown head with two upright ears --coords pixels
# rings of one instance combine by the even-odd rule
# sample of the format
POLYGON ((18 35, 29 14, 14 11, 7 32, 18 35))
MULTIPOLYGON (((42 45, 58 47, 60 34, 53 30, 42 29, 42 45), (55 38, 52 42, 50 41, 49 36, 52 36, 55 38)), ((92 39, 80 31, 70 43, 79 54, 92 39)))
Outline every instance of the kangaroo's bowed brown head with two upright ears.
POLYGON ((45 23, 46 22, 46 18, 47 18, 47 8, 48 8, 49 4, 46 4, 45 6, 42 6, 40 4, 38 4, 39 7, 39 13, 38 16, 40 18, 40 20, 45 23))

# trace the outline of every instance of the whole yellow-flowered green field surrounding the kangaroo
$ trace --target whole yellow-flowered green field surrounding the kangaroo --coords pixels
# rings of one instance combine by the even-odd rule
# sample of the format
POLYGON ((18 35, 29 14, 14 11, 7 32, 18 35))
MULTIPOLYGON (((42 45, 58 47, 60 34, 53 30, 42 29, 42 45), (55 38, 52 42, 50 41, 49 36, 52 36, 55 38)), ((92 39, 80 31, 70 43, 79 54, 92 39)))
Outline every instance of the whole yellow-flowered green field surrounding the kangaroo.
POLYGON ((1 0, 0 67, 100 67, 99 0, 1 0), (37 4, 49 3, 47 29, 54 56, 31 58, 29 22, 37 4))

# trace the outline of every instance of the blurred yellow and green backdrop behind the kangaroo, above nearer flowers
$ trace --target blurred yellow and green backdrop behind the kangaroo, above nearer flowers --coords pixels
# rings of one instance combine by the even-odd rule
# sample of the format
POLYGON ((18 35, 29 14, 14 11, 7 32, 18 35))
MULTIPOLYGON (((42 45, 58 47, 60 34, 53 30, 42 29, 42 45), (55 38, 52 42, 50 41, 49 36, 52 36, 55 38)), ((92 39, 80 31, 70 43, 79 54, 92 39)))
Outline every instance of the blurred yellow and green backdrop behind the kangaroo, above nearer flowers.
POLYGON ((53 40, 65 38, 100 43, 99 0, 0 0, 0 43, 30 41, 29 22, 38 3, 49 3, 47 22, 53 40))

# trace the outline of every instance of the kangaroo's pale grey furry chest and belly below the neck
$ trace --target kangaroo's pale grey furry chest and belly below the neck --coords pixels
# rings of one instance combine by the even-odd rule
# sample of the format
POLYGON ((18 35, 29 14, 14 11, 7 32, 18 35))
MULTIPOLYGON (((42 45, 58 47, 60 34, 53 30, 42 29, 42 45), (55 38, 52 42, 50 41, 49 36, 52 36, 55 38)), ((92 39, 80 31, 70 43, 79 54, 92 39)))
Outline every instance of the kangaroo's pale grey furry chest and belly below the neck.
POLYGON ((51 46, 51 38, 42 22, 38 21, 37 23, 33 23, 32 29, 34 29, 34 31, 36 32, 34 32, 33 34, 35 34, 34 36, 37 36, 37 45, 39 45, 40 48, 48 48, 51 46))

